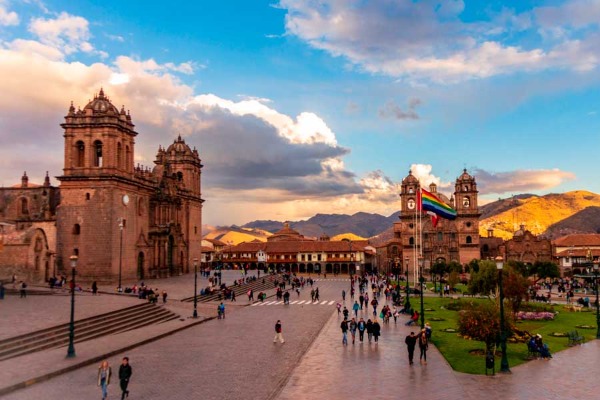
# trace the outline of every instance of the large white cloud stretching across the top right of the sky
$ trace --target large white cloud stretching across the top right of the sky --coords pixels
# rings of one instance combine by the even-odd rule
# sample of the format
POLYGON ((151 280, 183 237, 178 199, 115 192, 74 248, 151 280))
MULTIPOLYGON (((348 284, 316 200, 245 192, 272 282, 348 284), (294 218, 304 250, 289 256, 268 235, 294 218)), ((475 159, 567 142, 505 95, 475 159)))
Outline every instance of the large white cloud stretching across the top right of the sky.
MULTIPOLYGON (((552 12, 538 11, 544 29, 563 29, 549 20, 563 10, 579 25, 598 21, 598 1, 579 1, 577 6, 561 6, 552 12), (585 16, 585 5, 592 4, 585 16), (541 15, 544 15, 542 17, 541 15)), ((492 22, 460 20, 462 1, 373 1, 361 0, 281 0, 288 10, 289 34, 312 47, 342 56, 366 72, 385 74, 420 84, 423 81, 456 83, 473 78, 489 78, 514 72, 547 69, 589 70, 598 65, 593 34, 576 40, 565 38, 543 47, 543 43, 502 43, 509 31, 540 29, 531 13, 515 14, 504 9, 492 22), (503 24, 503 25, 498 25, 503 24), (590 43, 591 42, 591 43, 590 43)), ((573 22, 574 23, 574 22, 573 22)))

